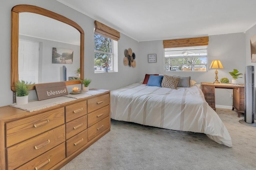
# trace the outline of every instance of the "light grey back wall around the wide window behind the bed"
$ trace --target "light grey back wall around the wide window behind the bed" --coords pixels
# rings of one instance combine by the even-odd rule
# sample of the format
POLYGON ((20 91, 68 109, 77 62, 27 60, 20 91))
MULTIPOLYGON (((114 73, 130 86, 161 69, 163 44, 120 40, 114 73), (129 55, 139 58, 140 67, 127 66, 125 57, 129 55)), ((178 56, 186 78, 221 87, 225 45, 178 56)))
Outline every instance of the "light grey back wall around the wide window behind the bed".
MULTIPOLYGON (((208 72, 164 72, 164 49, 162 40, 145 41, 139 43, 140 63, 140 79, 145 74, 167 74, 178 76, 191 76, 193 80, 200 82, 214 82, 215 69, 209 69, 208 72), (157 63, 148 63, 148 54, 156 54, 157 63)), ((232 33, 224 35, 209 36, 208 45, 208 63, 219 59, 224 69, 218 69, 219 81, 222 77, 227 77, 230 81, 232 77, 228 72, 234 68, 244 74, 245 71, 245 34, 232 33)), ((240 78, 240 82, 244 82, 244 78, 240 78)), ((232 90, 216 89, 216 105, 232 106, 232 98, 230 98, 232 90)))

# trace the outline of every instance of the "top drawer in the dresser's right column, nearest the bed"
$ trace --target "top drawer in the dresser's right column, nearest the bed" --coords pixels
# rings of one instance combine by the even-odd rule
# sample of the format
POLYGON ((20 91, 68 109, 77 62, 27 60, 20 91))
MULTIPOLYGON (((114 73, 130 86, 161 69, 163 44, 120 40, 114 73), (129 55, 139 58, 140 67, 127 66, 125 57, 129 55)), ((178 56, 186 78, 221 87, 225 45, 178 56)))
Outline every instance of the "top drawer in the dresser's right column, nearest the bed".
POLYGON ((105 94, 96 98, 89 99, 88 102, 88 113, 100 109, 101 107, 109 104, 109 95, 105 94))

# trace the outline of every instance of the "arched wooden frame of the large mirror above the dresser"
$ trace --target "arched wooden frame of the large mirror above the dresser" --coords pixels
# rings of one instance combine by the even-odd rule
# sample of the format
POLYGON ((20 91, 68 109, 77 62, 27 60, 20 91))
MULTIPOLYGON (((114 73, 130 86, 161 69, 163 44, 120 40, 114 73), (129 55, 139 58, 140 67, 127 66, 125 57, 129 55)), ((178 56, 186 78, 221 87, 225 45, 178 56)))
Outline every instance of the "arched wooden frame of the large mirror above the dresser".
MULTIPOLYGON (((11 90, 16 92, 15 82, 19 80, 18 74, 18 47, 19 47, 19 13, 31 12, 40 14, 63 23, 66 23, 80 32, 80 79, 84 79, 84 30, 74 21, 46 10, 38 6, 17 5, 12 8, 12 25, 11 25, 11 90)), ((42 83, 49 84, 49 83, 42 83)), ((80 80, 65 81, 66 86, 72 84, 81 84, 80 80)), ((34 86, 30 90, 34 90, 34 86)))

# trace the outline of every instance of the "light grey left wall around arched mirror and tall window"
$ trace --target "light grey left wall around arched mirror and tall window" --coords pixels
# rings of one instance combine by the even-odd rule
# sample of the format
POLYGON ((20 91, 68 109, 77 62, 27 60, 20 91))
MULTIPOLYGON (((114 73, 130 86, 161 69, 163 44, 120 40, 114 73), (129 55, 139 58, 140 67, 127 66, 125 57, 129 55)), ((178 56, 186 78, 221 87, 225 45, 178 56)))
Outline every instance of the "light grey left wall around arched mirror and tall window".
MULTIPOLYGON (((94 20, 80 12, 77 12, 60 2, 54 0, 11 0, 2 1, 0 6, 0 106, 12 104, 12 91, 10 90, 10 45, 11 45, 11 9, 18 4, 29 4, 45 8, 47 10, 63 15, 82 27, 85 32, 84 45, 84 75, 91 78, 90 88, 116 89, 127 84, 138 82, 138 72, 140 63, 132 68, 122 64, 124 49, 132 48, 138 56, 138 42, 121 34, 118 41, 118 72, 114 73, 94 73, 94 20)), ((32 91, 29 98, 35 96, 32 91)), ((32 97, 33 98, 33 97, 32 97)))

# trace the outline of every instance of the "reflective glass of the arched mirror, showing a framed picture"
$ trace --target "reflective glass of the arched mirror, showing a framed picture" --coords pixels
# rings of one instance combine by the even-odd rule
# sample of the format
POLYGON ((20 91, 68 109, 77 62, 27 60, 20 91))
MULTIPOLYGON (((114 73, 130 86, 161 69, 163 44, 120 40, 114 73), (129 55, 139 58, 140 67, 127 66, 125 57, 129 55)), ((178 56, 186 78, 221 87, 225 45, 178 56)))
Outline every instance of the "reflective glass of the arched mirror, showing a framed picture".
POLYGON ((47 83, 79 78, 80 32, 39 14, 19 14, 19 80, 47 83))

